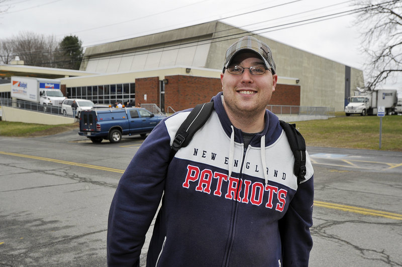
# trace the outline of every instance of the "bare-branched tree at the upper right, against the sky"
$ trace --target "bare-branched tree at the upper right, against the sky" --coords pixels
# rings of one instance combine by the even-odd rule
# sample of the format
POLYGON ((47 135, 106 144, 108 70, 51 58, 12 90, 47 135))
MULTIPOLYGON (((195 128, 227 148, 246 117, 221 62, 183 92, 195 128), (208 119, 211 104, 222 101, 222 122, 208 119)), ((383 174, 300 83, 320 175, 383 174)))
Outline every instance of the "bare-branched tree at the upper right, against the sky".
POLYGON ((369 55, 369 90, 402 73, 402 1, 358 0, 357 25, 363 29, 363 49, 369 55))

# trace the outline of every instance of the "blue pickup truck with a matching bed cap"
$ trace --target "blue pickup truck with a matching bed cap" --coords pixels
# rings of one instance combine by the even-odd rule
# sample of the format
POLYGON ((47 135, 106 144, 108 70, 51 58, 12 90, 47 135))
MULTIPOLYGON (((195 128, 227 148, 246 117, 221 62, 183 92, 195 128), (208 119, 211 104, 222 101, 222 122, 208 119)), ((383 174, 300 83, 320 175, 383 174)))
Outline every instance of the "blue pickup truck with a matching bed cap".
POLYGON ((84 110, 79 120, 78 135, 92 143, 109 140, 119 143, 123 135, 141 135, 148 132, 165 116, 155 115, 145 108, 105 108, 84 110))

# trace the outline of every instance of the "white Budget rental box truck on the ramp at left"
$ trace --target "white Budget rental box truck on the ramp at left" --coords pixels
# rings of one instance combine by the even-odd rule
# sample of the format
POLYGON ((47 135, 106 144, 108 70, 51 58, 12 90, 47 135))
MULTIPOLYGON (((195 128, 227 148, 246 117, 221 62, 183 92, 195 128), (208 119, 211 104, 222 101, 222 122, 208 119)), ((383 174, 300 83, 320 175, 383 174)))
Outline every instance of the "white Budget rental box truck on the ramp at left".
POLYGON ((44 111, 50 105, 61 106, 66 99, 60 91, 60 80, 20 76, 11 77, 11 97, 39 103, 44 111))

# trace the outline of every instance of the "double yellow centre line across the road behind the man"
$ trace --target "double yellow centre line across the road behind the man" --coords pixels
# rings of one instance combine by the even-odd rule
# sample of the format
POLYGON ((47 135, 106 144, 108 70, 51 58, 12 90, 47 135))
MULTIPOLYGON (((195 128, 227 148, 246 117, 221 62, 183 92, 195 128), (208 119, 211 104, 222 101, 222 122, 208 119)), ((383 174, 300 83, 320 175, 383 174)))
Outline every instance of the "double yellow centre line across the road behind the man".
MULTIPOLYGON (((75 162, 70 162, 70 161, 49 159, 49 158, 44 158, 44 157, 30 156, 30 155, 10 153, 10 152, 4 152, 4 151, 0 151, 0 154, 14 156, 14 157, 41 160, 41 161, 49 161, 49 162, 54 162, 54 163, 67 164, 67 165, 79 166, 79 167, 84 167, 84 168, 91 168, 91 169, 108 171, 108 172, 124 173, 124 170, 107 168, 107 167, 102 167, 102 166, 89 165, 89 164, 75 163, 75 162)), ((380 210, 373 210, 373 209, 366 209, 366 208, 358 208, 358 207, 335 204, 335 203, 329 203, 329 202, 323 202, 323 201, 314 201, 314 205, 317 206, 317 207, 325 207, 325 208, 338 209, 338 210, 354 212, 354 213, 360 213, 360 214, 365 214, 365 215, 380 216, 380 217, 385 217, 385 218, 390 218, 390 219, 402 220, 402 214, 398 214, 398 213, 392 213, 392 212, 386 212, 386 211, 380 211, 380 210)), ((2 244, 2 243, 0 242, 0 244, 2 244)))

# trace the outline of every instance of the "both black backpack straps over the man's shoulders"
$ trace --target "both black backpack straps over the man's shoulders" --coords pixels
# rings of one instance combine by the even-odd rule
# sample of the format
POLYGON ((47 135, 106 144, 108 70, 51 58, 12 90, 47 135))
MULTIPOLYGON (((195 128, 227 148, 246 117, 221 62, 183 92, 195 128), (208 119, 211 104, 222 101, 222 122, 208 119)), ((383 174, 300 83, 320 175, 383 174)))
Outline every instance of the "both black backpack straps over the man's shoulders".
MULTIPOLYGON (((171 146, 173 155, 190 143, 194 133, 202 127, 214 110, 214 102, 196 105, 181 123, 171 146)), ((306 142, 296 129, 296 124, 279 120, 280 126, 286 133, 287 141, 294 156, 293 172, 297 176, 297 184, 304 181, 306 175, 306 142)), ((171 157, 173 158, 173 157, 171 157)))

